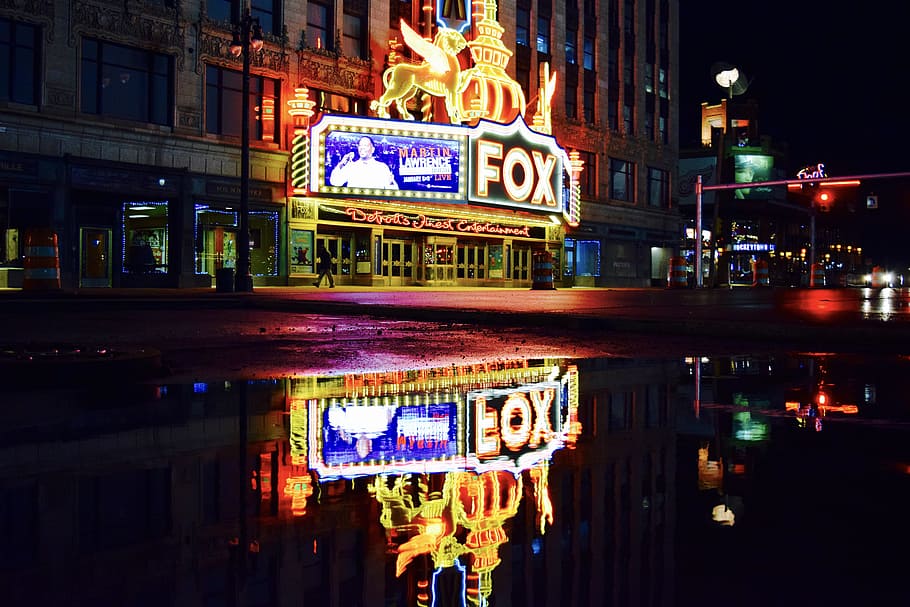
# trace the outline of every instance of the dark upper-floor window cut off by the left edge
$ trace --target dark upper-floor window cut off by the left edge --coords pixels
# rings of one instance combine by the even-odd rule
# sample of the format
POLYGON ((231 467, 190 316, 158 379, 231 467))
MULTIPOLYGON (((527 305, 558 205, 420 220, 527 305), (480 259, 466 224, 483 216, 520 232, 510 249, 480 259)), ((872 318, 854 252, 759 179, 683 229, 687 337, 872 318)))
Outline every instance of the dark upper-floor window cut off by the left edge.
POLYGON ((38 103, 40 29, 0 19, 0 101, 38 103))

